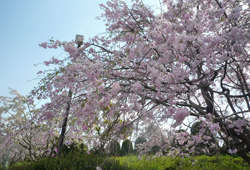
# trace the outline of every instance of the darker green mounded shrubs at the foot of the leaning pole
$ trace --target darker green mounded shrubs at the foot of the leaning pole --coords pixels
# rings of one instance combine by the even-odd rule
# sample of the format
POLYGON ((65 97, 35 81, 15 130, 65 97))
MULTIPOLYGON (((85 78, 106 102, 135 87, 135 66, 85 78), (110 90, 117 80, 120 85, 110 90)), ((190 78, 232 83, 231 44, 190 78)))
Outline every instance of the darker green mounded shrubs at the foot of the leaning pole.
POLYGON ((43 158, 37 161, 24 162, 11 166, 8 170, 96 170, 99 166, 102 170, 128 169, 119 164, 114 158, 101 157, 96 154, 70 152, 67 156, 60 158, 43 158))

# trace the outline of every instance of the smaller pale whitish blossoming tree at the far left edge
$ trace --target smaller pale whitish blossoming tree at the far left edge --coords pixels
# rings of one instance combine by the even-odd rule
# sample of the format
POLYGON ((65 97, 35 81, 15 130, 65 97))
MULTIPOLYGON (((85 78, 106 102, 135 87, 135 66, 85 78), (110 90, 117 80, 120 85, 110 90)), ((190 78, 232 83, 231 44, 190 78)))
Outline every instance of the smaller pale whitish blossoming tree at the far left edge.
POLYGON ((51 148, 56 134, 46 124, 36 124, 34 120, 39 110, 34 104, 27 104, 27 98, 16 90, 10 91, 13 97, 0 96, 0 157, 1 163, 9 157, 10 163, 34 160, 51 148), (50 134, 47 135, 47 131, 50 134))

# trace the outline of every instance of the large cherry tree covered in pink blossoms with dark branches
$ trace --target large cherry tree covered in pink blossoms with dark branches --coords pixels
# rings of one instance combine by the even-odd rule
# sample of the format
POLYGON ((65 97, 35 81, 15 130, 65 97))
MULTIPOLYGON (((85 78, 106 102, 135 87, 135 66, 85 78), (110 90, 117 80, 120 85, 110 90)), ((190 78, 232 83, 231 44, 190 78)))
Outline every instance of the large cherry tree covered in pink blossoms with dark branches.
MULTIPOLYGON (((159 6, 156 13, 140 0, 131 6, 110 0, 100 5, 105 36, 95 36, 80 48, 74 42, 42 43, 44 48, 63 46, 69 57, 45 62, 58 69, 33 91, 34 97, 51 100, 41 107, 38 120, 63 116, 70 89, 70 115, 76 124, 72 131, 91 134, 88 129, 93 124, 106 127, 103 119, 114 115, 123 120, 113 123, 116 136, 135 129, 145 118, 171 119, 175 129, 192 117, 204 124, 198 134, 183 135, 180 140, 186 150, 179 150, 181 154, 189 155, 198 144, 212 141, 215 149, 204 148, 205 154, 237 153, 250 164, 246 154, 250 149, 249 1, 163 0, 159 6), (103 111, 111 102, 110 109, 103 111)), ((96 136, 95 143, 101 140, 96 136)))

